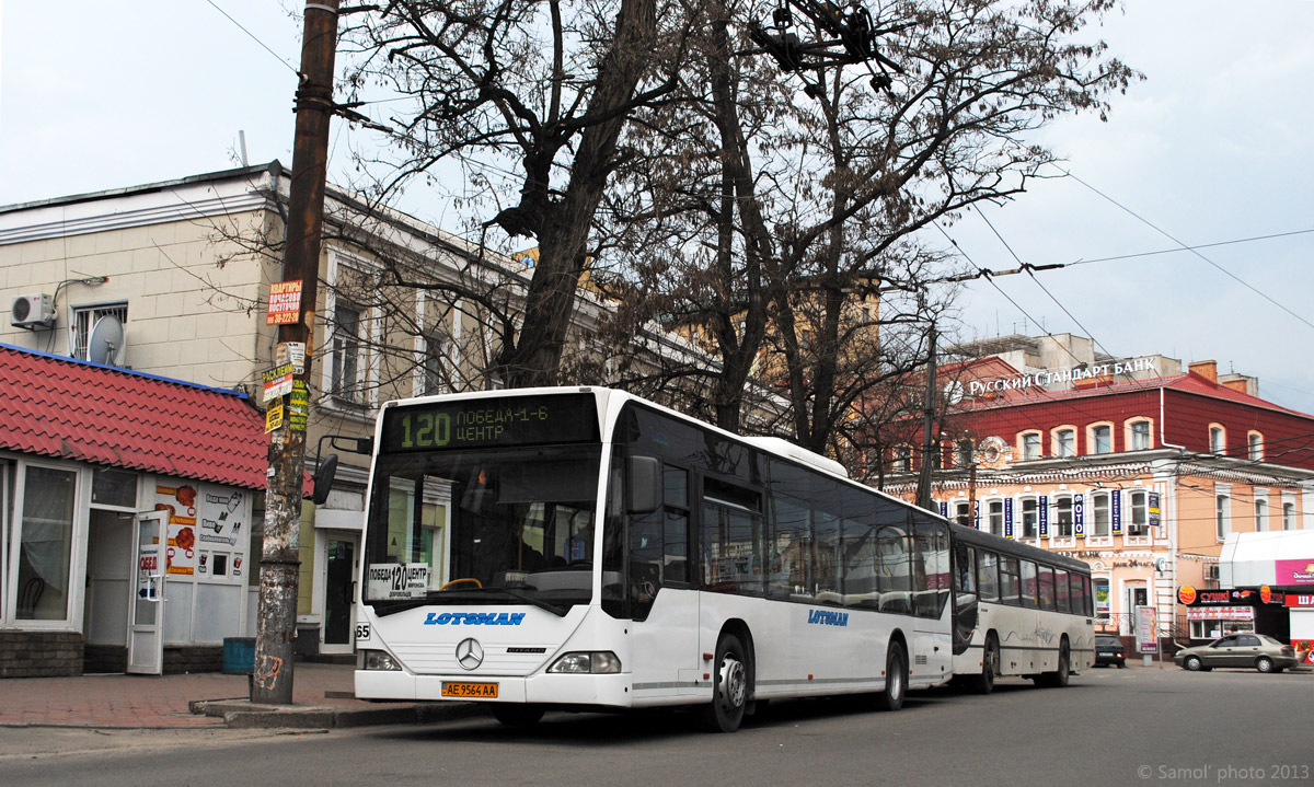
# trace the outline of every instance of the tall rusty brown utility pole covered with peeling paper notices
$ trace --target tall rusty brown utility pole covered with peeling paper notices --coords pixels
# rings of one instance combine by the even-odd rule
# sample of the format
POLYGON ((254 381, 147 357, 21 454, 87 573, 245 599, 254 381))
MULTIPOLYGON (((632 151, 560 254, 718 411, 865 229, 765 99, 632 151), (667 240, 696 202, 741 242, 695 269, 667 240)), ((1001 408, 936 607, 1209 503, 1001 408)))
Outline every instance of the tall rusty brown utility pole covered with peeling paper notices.
MULTIPOLYGON (((332 114, 334 56, 338 49, 338 1, 307 0, 297 87, 297 131, 292 148, 288 243, 276 314, 271 286, 269 319, 279 325, 279 368, 267 374, 292 377, 290 390, 269 403, 269 472, 264 543, 260 549, 260 607, 251 702, 292 703, 293 642, 297 636, 297 573, 301 570, 301 503, 309 409, 310 348, 314 346, 315 294, 323 235, 325 181, 328 168, 328 118, 332 114), (300 304, 290 304, 300 292, 300 304), (293 315, 293 311, 296 314, 293 315), (288 368, 290 367, 290 369, 288 368), (286 415, 284 415, 286 413, 286 415)), ((281 386, 276 390, 281 390, 281 386)))

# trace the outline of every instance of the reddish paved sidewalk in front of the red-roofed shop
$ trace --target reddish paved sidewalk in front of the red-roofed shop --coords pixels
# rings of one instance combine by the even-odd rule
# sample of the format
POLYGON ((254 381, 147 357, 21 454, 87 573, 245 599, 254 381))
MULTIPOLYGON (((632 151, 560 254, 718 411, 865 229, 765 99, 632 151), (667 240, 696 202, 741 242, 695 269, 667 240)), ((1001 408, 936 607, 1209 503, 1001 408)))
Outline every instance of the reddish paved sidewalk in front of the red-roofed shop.
POLYGON ((352 665, 298 662, 292 706, 252 706, 247 675, 81 675, 0 681, 0 727, 334 728, 482 713, 470 703, 369 703, 352 665), (221 702, 214 702, 221 700, 221 702))

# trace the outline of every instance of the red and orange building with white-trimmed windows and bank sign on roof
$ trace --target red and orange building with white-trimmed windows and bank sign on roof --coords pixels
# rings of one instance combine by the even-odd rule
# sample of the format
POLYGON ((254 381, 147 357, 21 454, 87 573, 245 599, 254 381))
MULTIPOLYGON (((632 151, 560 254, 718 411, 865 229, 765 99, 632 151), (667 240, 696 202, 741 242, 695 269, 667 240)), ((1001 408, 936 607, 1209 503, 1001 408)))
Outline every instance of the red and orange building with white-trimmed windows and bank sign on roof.
MULTIPOLYGON (((1219 586, 1229 533, 1314 527, 1314 416, 1214 361, 1112 359, 1068 335, 966 349, 933 460, 945 516, 1091 564, 1105 631, 1129 636, 1146 604, 1179 641, 1254 625, 1244 610, 1188 616, 1176 589, 1219 586)), ((909 430, 888 457, 887 489, 908 499, 918 443, 909 430)))

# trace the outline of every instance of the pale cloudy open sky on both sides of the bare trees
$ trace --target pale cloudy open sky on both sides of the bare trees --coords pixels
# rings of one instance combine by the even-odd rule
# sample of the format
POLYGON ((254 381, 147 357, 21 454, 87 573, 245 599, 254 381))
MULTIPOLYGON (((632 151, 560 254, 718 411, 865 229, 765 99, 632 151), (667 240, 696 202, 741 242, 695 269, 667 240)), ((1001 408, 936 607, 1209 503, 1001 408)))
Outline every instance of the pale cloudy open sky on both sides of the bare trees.
MULTIPOLYGON (((290 166, 301 7, 0 0, 0 205, 237 167, 239 131, 247 162, 290 166)), ((1215 360, 1314 413, 1310 30, 1314 0, 1129 0, 1089 29, 1146 80, 1108 122, 1039 134, 1071 176, 947 229, 980 268, 1063 265, 964 286, 958 336, 1074 332, 1118 359, 1215 360)), ((352 141, 335 122, 335 183, 352 141)), ((444 226, 443 205, 414 204, 444 226)))

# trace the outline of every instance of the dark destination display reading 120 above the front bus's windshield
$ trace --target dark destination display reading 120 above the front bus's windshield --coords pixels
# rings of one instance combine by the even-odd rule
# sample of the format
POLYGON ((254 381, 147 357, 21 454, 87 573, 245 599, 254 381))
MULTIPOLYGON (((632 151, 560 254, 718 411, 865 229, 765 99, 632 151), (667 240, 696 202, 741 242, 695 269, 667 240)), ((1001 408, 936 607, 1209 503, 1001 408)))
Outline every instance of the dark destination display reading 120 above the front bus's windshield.
POLYGON ((380 451, 399 453, 598 439, 598 409, 591 394, 493 397, 392 407, 384 415, 380 451))

